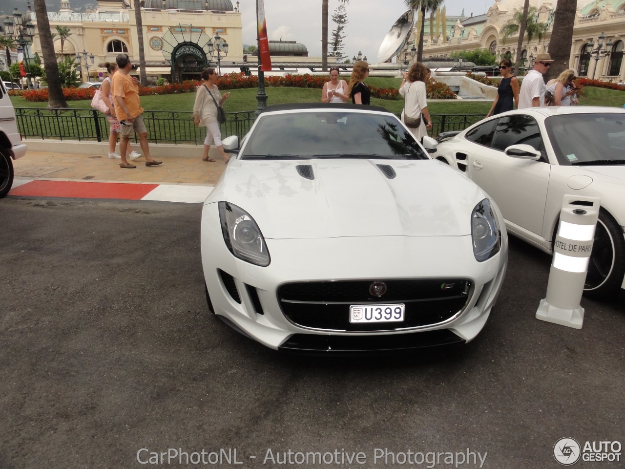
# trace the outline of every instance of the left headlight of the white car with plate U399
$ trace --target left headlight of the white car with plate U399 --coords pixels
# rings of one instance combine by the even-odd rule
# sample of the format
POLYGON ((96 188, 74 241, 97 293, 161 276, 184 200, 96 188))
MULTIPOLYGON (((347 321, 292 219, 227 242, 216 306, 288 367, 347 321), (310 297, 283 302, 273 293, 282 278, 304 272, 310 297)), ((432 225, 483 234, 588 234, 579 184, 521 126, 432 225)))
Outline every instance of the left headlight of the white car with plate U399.
POLYGON ((242 208, 219 202, 219 221, 226 246, 239 259, 269 265, 269 252, 256 221, 242 208))

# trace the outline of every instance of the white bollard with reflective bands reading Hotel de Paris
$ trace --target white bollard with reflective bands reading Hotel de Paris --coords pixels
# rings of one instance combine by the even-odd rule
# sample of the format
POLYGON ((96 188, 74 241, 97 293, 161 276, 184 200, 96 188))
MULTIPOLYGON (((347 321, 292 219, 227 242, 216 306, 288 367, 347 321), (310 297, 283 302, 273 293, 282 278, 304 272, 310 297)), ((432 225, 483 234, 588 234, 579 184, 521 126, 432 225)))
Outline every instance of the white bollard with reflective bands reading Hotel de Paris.
POLYGON ((541 300, 536 319, 582 328, 584 308, 579 302, 584 293, 597 218, 599 198, 564 196, 553 246, 547 297, 541 300), (575 203, 576 201, 582 203, 575 203))

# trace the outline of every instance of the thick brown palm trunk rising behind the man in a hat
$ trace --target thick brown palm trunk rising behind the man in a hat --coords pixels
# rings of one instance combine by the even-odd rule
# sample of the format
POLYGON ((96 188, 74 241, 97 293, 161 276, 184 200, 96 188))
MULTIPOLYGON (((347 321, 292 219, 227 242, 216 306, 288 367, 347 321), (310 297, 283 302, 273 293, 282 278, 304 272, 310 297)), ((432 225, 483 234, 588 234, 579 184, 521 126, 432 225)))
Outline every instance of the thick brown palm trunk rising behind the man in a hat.
POLYGON ((569 68, 569 54, 576 11, 577 0, 559 0, 557 2, 551 39, 549 39, 549 54, 554 60, 554 66, 549 67, 547 80, 556 78, 560 71, 569 68))

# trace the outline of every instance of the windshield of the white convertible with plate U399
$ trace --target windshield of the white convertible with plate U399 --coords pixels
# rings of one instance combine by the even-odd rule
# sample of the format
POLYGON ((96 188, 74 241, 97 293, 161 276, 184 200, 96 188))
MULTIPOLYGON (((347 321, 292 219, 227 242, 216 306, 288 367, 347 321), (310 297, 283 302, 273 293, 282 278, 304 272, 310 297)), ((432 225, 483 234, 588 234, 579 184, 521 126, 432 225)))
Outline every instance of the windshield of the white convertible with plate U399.
POLYGON ((395 116, 350 111, 261 115, 242 159, 429 159, 395 116))

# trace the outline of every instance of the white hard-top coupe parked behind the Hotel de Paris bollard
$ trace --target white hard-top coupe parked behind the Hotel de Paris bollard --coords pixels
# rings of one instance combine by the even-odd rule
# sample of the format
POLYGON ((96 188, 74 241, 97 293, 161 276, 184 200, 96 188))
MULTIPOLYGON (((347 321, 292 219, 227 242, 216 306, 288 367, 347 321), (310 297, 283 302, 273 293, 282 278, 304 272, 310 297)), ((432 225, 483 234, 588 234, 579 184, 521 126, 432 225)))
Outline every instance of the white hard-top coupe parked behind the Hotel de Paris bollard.
POLYGON ((439 140, 436 158, 496 201, 510 233, 547 253, 564 195, 600 198, 584 290, 601 297, 625 288, 625 109, 520 109, 439 140))

